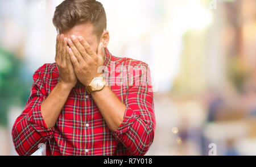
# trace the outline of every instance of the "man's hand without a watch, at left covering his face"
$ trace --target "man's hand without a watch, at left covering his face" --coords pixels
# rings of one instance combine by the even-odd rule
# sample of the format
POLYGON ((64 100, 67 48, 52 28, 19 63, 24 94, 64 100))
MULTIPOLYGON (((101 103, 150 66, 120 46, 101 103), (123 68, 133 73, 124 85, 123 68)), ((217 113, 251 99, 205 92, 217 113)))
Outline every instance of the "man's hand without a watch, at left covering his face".
POLYGON ((68 39, 63 34, 57 35, 55 61, 59 69, 59 83, 69 88, 76 85, 77 78, 71 59, 68 55, 68 39))

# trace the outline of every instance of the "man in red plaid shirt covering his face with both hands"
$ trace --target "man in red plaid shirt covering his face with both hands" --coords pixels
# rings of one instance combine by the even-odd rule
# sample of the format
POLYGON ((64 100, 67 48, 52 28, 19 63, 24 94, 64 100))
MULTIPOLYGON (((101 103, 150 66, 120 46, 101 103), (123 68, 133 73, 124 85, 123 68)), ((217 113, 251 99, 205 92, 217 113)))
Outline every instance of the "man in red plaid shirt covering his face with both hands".
POLYGON ((46 155, 145 155, 155 114, 148 65, 109 51, 104 7, 65 0, 53 24, 56 62, 36 70, 13 126, 19 155, 46 144, 46 155))

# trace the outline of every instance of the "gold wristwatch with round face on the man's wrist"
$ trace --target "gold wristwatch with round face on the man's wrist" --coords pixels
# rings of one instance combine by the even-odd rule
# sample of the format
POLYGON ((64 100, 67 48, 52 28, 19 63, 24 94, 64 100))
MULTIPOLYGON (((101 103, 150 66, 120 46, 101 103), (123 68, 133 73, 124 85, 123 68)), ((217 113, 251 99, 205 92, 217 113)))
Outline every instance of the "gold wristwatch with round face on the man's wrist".
POLYGON ((93 78, 88 86, 85 86, 86 91, 91 94, 93 91, 100 91, 106 85, 104 77, 93 78))

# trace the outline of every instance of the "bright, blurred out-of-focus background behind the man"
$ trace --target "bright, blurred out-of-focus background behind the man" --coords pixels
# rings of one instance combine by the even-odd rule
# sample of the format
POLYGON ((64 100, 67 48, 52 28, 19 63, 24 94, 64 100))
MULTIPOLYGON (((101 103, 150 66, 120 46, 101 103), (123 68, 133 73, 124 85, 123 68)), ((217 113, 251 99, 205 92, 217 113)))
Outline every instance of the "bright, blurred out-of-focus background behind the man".
MULTIPOLYGON (((61 0, 0 1, 0 155, 32 74, 54 62, 61 0)), ((147 155, 256 155, 256 0, 100 0, 114 56, 150 65, 155 139, 147 155)))

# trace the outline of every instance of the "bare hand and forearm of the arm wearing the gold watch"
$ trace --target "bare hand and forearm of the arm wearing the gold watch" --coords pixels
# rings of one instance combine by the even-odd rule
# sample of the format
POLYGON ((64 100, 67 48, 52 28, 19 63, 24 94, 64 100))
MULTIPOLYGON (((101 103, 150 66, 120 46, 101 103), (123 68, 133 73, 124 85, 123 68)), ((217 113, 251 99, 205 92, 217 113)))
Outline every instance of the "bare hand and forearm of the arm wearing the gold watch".
MULTIPOLYGON (((71 38, 72 40, 68 40, 69 55, 76 76, 81 83, 88 86, 94 77, 101 75, 98 68, 104 65, 103 43, 99 44, 96 54, 83 37, 72 35, 71 38)), ((126 111, 125 104, 119 100, 109 86, 105 86, 101 91, 94 91, 91 95, 110 130, 117 130, 123 122, 126 111)))

